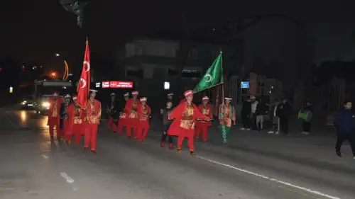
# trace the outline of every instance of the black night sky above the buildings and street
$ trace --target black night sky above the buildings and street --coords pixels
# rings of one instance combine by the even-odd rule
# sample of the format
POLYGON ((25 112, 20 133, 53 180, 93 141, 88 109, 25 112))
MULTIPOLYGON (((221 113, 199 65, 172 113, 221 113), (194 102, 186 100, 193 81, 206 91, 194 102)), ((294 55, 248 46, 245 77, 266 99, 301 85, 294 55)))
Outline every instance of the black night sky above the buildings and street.
MULTIPOLYGON (((180 31, 182 10, 185 10, 192 29, 261 13, 283 13, 305 24, 315 44, 315 63, 325 59, 355 58, 355 12, 351 0, 332 1, 332 4, 320 0, 312 3, 297 1, 297 4, 285 4, 284 1, 273 1, 273 4, 270 1, 202 2, 94 1, 87 7, 85 17, 91 49, 93 52, 110 52, 116 45, 138 35, 156 30, 180 31)), ((0 59, 13 57, 19 62, 37 61, 47 68, 61 67, 61 62, 54 57, 57 52, 69 62, 78 57, 82 59, 86 33, 77 26, 76 16, 65 11, 58 1, 6 1, 1 6, 0 15, 0 59)), ((263 31, 274 31, 279 35, 282 34, 280 31, 285 31, 277 28, 275 22, 271 26, 268 23, 271 22, 261 21, 255 28, 258 34, 253 34, 261 54, 270 51, 269 45, 273 43, 270 40, 275 39, 273 34, 263 31), (264 40, 268 41, 265 45, 264 40)), ((292 40, 292 33, 287 34, 286 38, 292 40)), ((283 41, 275 39, 275 42, 283 41)))

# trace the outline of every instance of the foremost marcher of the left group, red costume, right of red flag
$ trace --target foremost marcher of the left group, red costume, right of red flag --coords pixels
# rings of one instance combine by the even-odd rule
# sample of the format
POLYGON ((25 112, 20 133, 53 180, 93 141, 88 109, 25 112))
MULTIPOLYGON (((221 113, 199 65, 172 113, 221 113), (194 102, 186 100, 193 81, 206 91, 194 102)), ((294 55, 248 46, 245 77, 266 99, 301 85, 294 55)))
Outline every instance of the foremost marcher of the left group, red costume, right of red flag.
POLYGON ((95 99, 96 90, 90 89, 89 101, 87 101, 87 106, 84 108, 86 112, 86 132, 85 132, 85 142, 84 149, 89 149, 89 144, 91 143, 91 151, 96 154, 96 142, 97 142, 97 128, 101 120, 101 103, 95 99))

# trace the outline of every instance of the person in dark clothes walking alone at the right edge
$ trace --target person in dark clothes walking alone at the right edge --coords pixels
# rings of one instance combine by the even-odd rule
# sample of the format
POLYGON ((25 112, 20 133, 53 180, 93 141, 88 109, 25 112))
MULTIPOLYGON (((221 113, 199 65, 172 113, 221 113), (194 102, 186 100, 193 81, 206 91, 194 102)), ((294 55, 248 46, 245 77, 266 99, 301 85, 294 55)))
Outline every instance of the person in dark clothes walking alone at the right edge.
POLYGON ((337 156, 342 157, 340 148, 345 140, 348 140, 355 159, 355 113, 351 101, 345 101, 344 110, 340 110, 334 118, 334 126, 337 127, 337 144, 335 152, 337 156))

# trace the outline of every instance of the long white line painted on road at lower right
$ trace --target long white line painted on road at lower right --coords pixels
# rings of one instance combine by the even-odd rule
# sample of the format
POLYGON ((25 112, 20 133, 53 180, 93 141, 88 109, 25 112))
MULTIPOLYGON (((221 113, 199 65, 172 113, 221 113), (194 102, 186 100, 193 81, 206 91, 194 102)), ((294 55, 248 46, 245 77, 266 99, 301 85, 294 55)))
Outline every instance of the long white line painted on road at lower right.
POLYGON ((297 189, 300 189, 300 190, 302 190, 302 191, 307 191, 308 193, 313 193, 313 194, 315 194, 315 195, 319 195, 319 196, 322 196, 322 197, 324 197, 324 198, 329 198, 329 199, 341 199, 341 198, 338 198, 338 197, 336 197, 336 196, 332 196, 332 195, 327 195, 327 194, 325 194, 325 193, 321 193, 320 191, 312 190, 312 189, 310 189, 310 188, 304 188, 304 187, 302 187, 302 186, 293 185, 293 184, 291 184, 291 183, 287 183, 287 182, 285 182, 285 181, 280 181, 280 180, 275 179, 275 178, 271 178, 271 177, 268 177, 268 176, 263 176, 263 175, 261 175, 261 174, 256 174, 256 173, 251 172, 251 171, 248 171, 248 170, 246 170, 246 169, 240 169, 240 168, 237 168, 237 167, 235 167, 235 166, 231 166, 231 165, 229 165, 229 164, 223 164, 222 162, 219 162, 219 161, 214 161, 214 160, 212 160, 212 159, 207 159, 207 158, 200 157, 200 156, 196 156, 196 157, 197 157, 197 158, 200 158, 200 159, 203 159, 203 160, 205 160, 205 161, 212 162, 212 163, 214 163, 214 164, 218 164, 218 165, 220 165, 220 166, 228 167, 229 169, 234 169, 234 170, 236 170, 236 171, 241 171, 241 172, 243 172, 243 173, 245 173, 245 174, 250 174, 250 175, 253 175, 253 176, 257 176, 257 177, 259 177, 259 178, 264 178, 264 179, 267 179, 267 180, 269 180, 269 181, 273 181, 273 182, 275 182, 275 183, 280 183, 280 184, 283 184, 284 186, 290 186, 290 187, 292 187, 292 188, 297 188, 297 189))

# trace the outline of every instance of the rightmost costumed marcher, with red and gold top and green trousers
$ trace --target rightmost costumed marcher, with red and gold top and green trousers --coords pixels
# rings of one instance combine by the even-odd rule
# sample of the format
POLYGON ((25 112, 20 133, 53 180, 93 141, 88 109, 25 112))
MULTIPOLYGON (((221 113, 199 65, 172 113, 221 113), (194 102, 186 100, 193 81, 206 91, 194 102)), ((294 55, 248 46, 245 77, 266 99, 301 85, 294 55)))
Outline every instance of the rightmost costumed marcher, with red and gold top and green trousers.
POLYGON ((222 144, 228 146, 228 135, 231 125, 236 125, 236 111, 231 105, 231 98, 224 98, 225 103, 219 106, 219 123, 222 135, 222 144), (233 123, 232 123, 233 122, 233 123))

